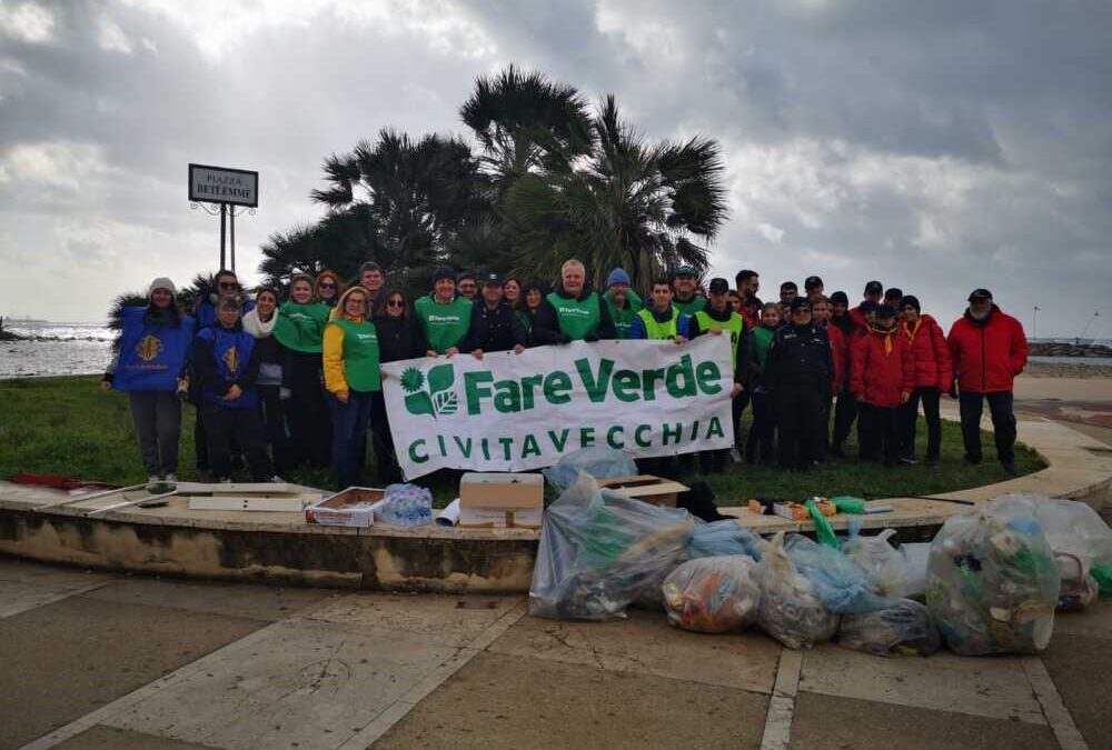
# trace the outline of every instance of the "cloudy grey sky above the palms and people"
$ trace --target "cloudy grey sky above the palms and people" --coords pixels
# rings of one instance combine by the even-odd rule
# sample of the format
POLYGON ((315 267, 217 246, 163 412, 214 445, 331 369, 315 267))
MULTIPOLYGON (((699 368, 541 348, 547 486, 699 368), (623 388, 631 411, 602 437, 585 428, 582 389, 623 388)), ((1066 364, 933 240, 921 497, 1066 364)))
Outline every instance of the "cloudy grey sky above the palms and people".
POLYGON ((515 62, 618 96, 653 138, 726 157, 715 271, 974 287, 1039 334, 1112 336, 1112 3, 0 0, 0 313, 100 320, 156 274, 216 268, 188 162, 260 172, 237 222, 310 222, 321 159, 384 126, 463 133, 515 62))

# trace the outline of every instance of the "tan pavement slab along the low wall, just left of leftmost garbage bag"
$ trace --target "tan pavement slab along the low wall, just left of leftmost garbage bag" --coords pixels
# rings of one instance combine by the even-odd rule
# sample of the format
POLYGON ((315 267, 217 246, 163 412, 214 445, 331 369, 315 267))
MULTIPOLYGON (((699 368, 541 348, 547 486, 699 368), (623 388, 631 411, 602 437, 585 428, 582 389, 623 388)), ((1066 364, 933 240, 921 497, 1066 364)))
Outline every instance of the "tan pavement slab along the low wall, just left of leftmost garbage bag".
POLYGON ((524 597, 350 593, 321 607, 314 620, 388 633, 407 632, 446 646, 467 646, 524 597), (459 607, 463 602, 464 607, 459 607), (487 604, 494 604, 488 609, 487 604))

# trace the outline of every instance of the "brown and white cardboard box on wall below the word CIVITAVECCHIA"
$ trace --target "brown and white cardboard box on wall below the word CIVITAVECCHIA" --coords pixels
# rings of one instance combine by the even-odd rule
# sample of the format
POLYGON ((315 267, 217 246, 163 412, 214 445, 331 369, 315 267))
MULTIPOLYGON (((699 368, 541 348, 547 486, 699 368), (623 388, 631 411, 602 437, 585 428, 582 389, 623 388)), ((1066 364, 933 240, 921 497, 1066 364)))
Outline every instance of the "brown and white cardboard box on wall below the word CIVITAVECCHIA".
POLYGON ((545 510, 540 474, 470 472, 459 480, 459 526, 539 529, 545 510))

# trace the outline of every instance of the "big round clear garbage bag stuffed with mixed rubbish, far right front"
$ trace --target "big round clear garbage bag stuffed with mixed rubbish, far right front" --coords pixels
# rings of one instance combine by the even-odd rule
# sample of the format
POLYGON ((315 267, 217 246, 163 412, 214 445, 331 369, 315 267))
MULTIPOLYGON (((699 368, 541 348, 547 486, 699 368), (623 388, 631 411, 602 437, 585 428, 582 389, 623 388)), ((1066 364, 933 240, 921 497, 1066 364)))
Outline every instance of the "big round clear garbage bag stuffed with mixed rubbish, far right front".
POLYGON ((1050 644, 1059 570, 1039 519, 993 501, 946 519, 931 544, 926 603, 956 653, 1037 653, 1050 644))

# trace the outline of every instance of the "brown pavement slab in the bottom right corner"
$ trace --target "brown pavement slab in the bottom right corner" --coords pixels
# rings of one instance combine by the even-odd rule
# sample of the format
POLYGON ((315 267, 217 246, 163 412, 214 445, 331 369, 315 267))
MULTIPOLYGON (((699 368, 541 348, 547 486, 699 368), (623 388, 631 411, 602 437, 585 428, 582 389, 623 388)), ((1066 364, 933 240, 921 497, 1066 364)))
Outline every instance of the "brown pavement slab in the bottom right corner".
POLYGON ((1054 633, 1042 654, 1054 686, 1082 737, 1091 748, 1110 748, 1109 717, 1112 716, 1112 649, 1102 638, 1054 633))

